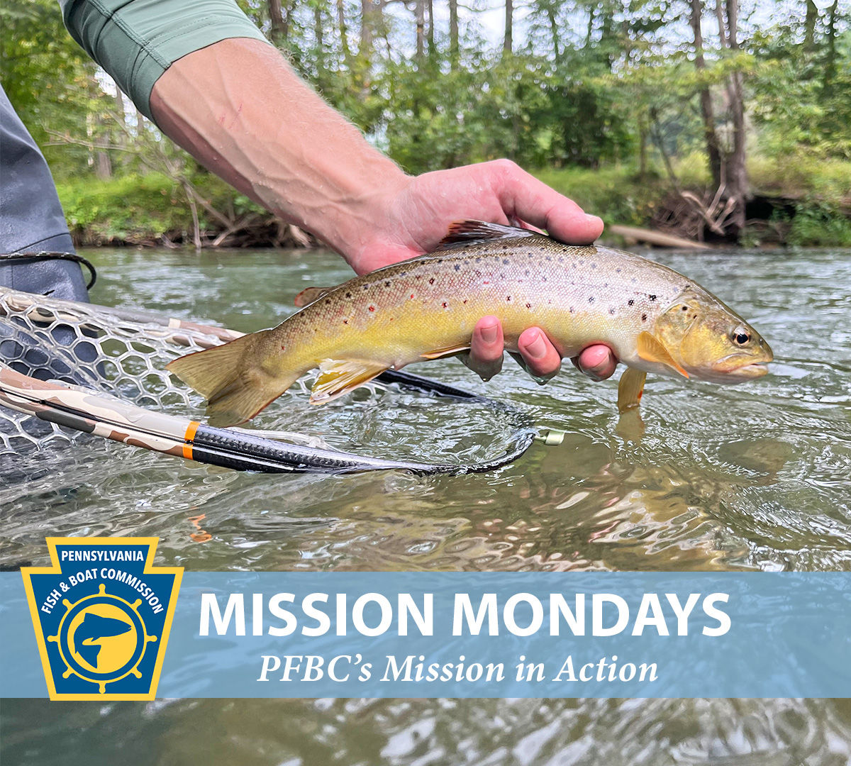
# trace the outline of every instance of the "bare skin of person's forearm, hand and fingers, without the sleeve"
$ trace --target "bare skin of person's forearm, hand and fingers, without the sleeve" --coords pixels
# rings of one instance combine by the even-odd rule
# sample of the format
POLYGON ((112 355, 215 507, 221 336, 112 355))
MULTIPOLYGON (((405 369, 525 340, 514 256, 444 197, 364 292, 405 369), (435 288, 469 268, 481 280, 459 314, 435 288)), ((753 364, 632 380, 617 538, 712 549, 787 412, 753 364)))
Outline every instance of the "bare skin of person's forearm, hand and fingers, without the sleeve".
MULTIPOLYGON (((429 252, 462 218, 522 220, 571 243, 593 242, 602 230, 597 217, 507 161, 404 174, 277 51, 253 40, 177 61, 154 86, 151 111, 200 162, 315 233, 358 273, 429 252)), ((465 363, 487 379, 500 371, 503 346, 499 320, 483 317, 465 363)), ((518 346, 530 374, 556 374, 561 360, 542 330, 526 330, 518 346)), ((608 346, 591 346, 577 366, 603 379, 615 364, 608 346)))

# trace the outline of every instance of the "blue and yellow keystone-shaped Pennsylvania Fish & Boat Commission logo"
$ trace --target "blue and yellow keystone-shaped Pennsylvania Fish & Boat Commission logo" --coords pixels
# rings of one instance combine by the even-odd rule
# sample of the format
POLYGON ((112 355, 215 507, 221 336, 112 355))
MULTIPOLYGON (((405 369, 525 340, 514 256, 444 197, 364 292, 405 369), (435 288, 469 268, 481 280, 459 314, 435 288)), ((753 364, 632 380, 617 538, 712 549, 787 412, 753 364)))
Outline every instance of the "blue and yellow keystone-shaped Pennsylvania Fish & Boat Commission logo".
POLYGON ((156 537, 49 537, 52 567, 22 569, 51 700, 152 700, 180 567, 156 537))

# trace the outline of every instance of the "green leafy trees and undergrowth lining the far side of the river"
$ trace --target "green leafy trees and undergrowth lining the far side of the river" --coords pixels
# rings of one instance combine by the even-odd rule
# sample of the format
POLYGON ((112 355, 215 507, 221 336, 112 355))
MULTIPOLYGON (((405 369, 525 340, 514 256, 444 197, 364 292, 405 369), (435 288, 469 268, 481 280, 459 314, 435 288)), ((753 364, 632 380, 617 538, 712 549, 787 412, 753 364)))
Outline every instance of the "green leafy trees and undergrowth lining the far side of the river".
MULTIPOLYGON (((612 223, 647 225, 675 193, 665 160, 680 189, 713 191, 698 96, 711 89, 714 127, 728 145, 725 89, 730 73, 740 73, 751 188, 799 201, 796 215, 776 221, 790 240, 846 242, 851 18, 844 3, 832 16, 819 6, 808 21, 800 0, 762 29, 743 9, 741 49, 707 34, 699 71, 684 0, 530 0, 522 23, 516 14, 512 52, 483 37, 474 4, 462 12, 457 56, 438 26, 419 57, 411 3, 375 3, 364 22, 358 0, 288 0, 282 28, 266 0, 237 2, 408 172, 511 157, 612 223)), ((257 211, 150 123, 124 115, 67 35, 54 0, 5 0, 0 22, 0 77, 63 181, 78 235, 141 242, 189 231, 189 189, 224 211, 217 223, 199 203, 202 229, 257 211), (115 178, 95 180, 106 151, 115 178)))

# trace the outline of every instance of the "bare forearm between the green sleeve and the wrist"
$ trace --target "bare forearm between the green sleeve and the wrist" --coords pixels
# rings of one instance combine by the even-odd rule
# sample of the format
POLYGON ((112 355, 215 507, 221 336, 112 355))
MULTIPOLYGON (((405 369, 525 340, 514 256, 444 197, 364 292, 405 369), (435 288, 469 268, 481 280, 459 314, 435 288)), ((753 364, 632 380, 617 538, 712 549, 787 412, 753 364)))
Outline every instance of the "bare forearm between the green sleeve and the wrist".
POLYGON ((230 39, 174 62, 151 92, 163 132, 266 209, 348 254, 407 176, 274 48, 230 39))

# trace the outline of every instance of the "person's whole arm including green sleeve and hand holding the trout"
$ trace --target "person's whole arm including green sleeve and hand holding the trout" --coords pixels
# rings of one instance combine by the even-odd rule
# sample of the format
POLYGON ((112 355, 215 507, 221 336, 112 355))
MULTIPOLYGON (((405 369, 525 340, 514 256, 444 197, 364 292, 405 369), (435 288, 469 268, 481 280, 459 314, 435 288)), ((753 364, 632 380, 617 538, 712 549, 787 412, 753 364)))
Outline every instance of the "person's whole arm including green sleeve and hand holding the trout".
MULTIPOLYGON (((231 31, 217 27, 224 5, 236 9, 226 0, 100 0, 93 10, 95 3, 68 0, 65 11, 72 34, 165 134, 266 209, 315 233, 357 272, 428 252, 459 218, 523 220, 573 243, 599 234, 597 218, 513 163, 404 174, 258 39, 248 20, 233 20, 231 31)), ((471 366, 484 377, 502 356, 501 346, 482 337, 487 330, 480 323, 471 352, 471 366)), ((533 374, 558 369, 540 330, 524 333, 519 345, 533 374), (528 346, 540 343, 545 353, 536 356, 528 346)))

